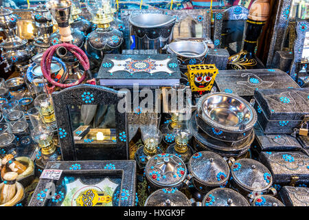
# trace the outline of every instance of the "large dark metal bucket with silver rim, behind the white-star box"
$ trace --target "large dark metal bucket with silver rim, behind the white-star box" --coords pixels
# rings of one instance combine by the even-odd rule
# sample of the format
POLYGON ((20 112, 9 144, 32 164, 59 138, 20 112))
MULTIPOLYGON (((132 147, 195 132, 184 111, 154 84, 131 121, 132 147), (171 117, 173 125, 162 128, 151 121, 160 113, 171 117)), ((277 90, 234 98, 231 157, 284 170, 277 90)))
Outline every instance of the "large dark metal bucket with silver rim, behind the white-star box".
POLYGON ((166 14, 138 14, 129 18, 135 49, 161 50, 170 39, 176 18, 166 14))

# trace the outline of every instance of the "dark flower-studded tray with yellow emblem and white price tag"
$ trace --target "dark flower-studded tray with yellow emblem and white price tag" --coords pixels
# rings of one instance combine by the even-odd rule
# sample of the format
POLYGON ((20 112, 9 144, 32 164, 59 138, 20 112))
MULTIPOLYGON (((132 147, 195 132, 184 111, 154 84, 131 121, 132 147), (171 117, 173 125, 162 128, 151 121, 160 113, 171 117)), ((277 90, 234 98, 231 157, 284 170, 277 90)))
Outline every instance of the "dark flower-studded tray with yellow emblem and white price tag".
POLYGON ((57 171, 40 177, 29 206, 135 206, 135 161, 49 162, 47 170, 57 171))

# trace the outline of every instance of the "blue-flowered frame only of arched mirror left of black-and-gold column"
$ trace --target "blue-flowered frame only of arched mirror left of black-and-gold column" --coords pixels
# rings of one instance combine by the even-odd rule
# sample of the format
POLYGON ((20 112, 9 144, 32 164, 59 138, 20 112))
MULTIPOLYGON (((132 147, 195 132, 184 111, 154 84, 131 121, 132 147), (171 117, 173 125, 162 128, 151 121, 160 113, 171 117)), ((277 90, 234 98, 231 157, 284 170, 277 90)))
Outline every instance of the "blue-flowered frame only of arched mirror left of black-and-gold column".
MULTIPOLYGON (((247 20, 249 10, 242 5, 235 5, 222 12, 214 12, 214 45, 220 48, 222 43, 223 20, 247 20)), ((242 37, 244 39, 244 36, 242 37)))

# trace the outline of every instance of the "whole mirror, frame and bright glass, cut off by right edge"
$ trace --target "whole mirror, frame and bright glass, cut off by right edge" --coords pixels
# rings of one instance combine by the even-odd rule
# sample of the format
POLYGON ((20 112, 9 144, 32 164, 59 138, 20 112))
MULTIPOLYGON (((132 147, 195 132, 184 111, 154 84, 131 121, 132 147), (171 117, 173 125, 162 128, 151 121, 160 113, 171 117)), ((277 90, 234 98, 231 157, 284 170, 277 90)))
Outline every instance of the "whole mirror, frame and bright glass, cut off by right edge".
POLYGON ((294 44, 294 58, 290 67, 290 76, 296 78, 297 65, 301 61, 308 62, 309 58, 309 19, 296 20, 297 39, 294 44))

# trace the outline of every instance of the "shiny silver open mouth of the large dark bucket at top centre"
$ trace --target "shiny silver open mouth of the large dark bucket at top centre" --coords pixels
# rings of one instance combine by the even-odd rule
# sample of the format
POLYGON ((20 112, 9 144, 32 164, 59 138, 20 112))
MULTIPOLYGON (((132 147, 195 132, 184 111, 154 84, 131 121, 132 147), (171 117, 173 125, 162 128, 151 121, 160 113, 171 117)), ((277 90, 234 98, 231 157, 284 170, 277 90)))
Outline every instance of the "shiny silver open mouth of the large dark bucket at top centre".
POLYGON ((176 21, 176 18, 166 14, 138 14, 130 16, 129 22, 139 28, 160 28, 176 21))

